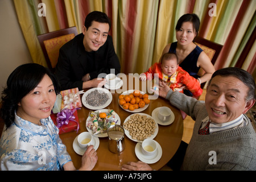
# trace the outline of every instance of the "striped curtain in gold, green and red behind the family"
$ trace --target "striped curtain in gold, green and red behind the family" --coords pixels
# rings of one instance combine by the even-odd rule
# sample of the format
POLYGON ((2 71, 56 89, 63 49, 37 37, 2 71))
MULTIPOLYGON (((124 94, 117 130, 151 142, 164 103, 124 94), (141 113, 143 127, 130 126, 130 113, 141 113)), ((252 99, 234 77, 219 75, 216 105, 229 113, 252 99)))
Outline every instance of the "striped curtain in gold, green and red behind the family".
POLYGON ((159 61, 168 43, 176 42, 180 16, 195 13, 201 21, 199 36, 223 45, 214 67, 239 67, 256 75, 255 0, 14 0, 14 4, 32 59, 44 66, 36 36, 72 26, 80 33, 86 15, 97 10, 112 20, 110 35, 121 72, 140 74, 159 61), (42 3, 46 16, 39 16, 42 3))

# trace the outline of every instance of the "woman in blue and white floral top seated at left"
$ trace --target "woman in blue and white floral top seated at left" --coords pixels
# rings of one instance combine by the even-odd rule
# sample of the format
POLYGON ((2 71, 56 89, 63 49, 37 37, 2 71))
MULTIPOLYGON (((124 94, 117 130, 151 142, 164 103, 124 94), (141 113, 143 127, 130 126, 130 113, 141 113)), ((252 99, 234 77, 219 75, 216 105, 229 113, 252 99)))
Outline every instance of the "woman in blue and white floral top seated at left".
MULTIPOLYGON (((11 73, 2 96, 1 170, 76 169, 49 117, 58 91, 55 76, 39 64, 20 65, 11 73)), ((90 146, 79 169, 91 170, 96 162, 90 146)))

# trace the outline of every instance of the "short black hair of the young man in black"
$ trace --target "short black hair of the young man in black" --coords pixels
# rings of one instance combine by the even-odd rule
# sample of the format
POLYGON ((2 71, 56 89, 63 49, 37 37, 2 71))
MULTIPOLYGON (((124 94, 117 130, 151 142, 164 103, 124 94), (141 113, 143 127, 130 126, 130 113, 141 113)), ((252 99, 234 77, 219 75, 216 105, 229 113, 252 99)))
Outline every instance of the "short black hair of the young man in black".
POLYGON ((108 17, 108 15, 106 15, 105 13, 101 12, 101 11, 92 11, 91 13, 89 13, 84 21, 84 26, 86 27, 86 30, 88 30, 88 28, 90 26, 92 26, 92 22, 100 22, 100 23, 108 23, 109 24, 109 31, 110 31, 110 27, 111 27, 111 21, 108 17))

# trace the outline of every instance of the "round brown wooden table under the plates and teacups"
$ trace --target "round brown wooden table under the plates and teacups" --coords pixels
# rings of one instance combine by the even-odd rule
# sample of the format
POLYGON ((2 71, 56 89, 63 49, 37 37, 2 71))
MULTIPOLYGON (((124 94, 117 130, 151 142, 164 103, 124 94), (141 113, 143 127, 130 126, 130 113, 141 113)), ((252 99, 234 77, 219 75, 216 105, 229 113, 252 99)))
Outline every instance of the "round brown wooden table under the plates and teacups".
MULTIPOLYGON (((144 86, 144 82, 139 81, 138 76, 119 75, 119 77, 121 77, 121 79, 123 80, 123 86, 118 90, 110 90, 113 96, 113 100, 104 109, 113 109, 115 113, 119 115, 121 119, 121 125, 122 125, 125 119, 129 117, 129 115, 134 113, 130 113, 129 111, 124 110, 122 109, 121 106, 119 106, 118 104, 119 94, 130 89, 139 89, 143 91, 145 90, 145 86, 144 86)), ((147 83, 147 85, 150 85, 150 84, 147 83)), ((172 156, 174 156, 175 152, 177 151, 177 148, 180 145, 181 138, 183 136, 183 119, 180 114, 180 110, 172 106, 170 102, 168 102, 164 98, 158 97, 154 100, 151 100, 147 109, 143 110, 141 113, 146 113, 148 115, 151 115, 152 111, 156 107, 161 107, 161 106, 170 107, 170 109, 175 115, 175 119, 171 125, 167 125, 167 126, 158 125, 159 131, 156 137, 154 138, 154 140, 156 140, 156 142, 158 142, 162 147, 162 157, 158 160, 158 162, 149 164, 153 169, 156 169, 156 170, 166 165, 167 162, 172 158, 172 156)), ((77 135, 79 135, 84 131, 87 131, 85 122, 86 122, 86 119, 88 118, 89 111, 90 109, 87 109, 84 105, 81 107, 80 110, 77 110, 77 113, 79 115, 79 122, 80 122, 80 129, 78 133, 76 133, 76 131, 72 131, 69 133, 60 134, 60 138, 62 139, 63 143, 67 146, 67 151, 69 155, 71 155, 73 164, 75 165, 76 168, 79 168, 81 166, 82 156, 79 154, 76 154, 76 152, 74 151, 73 141, 75 140, 77 135)), ((109 151, 108 137, 99 138, 99 139, 100 139, 100 145, 97 149, 98 161, 96 166, 93 168, 93 170, 97 170, 97 171, 121 170, 121 167, 123 164, 126 164, 127 162, 130 162, 130 161, 137 162, 139 160, 135 154, 135 146, 137 142, 134 142, 133 140, 129 139, 128 137, 126 137, 126 135, 125 135, 125 150, 123 150, 120 155, 114 154, 109 151)))

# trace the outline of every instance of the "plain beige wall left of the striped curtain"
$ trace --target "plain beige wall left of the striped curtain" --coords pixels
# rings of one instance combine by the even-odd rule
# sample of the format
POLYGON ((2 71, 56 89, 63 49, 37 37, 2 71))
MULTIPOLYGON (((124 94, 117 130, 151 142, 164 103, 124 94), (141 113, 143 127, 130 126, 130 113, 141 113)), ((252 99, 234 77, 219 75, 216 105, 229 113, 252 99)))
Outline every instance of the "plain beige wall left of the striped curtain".
POLYGON ((32 59, 19 26, 14 2, 0 0, 0 93, 10 73, 25 63, 32 63, 32 59))

